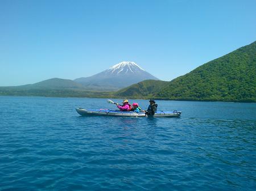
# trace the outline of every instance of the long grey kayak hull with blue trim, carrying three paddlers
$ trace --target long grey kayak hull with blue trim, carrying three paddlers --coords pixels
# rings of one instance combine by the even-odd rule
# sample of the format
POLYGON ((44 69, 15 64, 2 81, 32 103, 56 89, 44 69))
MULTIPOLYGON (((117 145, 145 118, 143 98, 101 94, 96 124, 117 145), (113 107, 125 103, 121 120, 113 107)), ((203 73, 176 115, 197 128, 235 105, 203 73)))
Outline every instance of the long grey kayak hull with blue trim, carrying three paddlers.
MULTIPOLYGON (((84 109, 76 108, 77 113, 81 116, 118 116, 118 117, 148 117, 147 114, 143 112, 123 112, 119 110, 110 110, 110 109, 84 109)), ((180 117, 181 112, 164 112, 157 111, 154 114, 154 117, 180 117)), ((151 117, 151 116, 150 116, 151 117)))

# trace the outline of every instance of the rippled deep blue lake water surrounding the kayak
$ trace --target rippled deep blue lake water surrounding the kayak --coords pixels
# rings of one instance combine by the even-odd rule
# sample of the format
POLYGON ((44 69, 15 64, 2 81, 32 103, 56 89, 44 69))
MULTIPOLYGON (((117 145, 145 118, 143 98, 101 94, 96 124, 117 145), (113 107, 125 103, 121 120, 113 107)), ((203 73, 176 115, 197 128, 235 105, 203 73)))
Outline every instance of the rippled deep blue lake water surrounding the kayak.
POLYGON ((255 103, 157 103, 181 118, 80 117, 76 107, 115 105, 0 97, 0 190, 256 190, 255 103))

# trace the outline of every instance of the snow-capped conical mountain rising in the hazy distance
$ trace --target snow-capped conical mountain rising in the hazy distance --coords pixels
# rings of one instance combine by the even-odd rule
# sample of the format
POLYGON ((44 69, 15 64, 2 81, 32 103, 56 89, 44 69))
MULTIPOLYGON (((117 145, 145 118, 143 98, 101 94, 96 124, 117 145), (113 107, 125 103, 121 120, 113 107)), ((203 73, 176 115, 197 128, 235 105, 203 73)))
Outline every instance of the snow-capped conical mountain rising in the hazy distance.
POLYGON ((120 62, 101 73, 86 78, 77 78, 75 82, 81 83, 90 90, 119 90, 131 84, 154 77, 135 62, 120 62))

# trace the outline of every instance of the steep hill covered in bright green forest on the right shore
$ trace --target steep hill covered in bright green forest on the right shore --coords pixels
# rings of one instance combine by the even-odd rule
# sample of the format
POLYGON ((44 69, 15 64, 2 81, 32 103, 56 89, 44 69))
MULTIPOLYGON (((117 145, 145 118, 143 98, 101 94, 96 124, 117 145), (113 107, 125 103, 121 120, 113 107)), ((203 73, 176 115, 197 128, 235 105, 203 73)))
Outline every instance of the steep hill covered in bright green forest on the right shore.
POLYGON ((119 92, 134 92, 129 96, 141 98, 256 102, 256 42, 205 63, 167 85, 155 81, 152 87, 158 84, 160 90, 152 88, 147 94, 141 91, 150 90, 150 84, 134 84, 119 92))

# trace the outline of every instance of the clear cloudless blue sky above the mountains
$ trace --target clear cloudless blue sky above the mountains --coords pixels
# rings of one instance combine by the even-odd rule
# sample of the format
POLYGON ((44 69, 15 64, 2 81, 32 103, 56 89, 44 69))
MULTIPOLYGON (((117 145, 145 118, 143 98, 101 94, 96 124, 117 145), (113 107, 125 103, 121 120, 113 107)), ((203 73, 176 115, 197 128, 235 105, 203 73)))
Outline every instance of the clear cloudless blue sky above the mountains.
POLYGON ((0 86, 134 61, 162 80, 256 40, 256 1, 0 0, 0 86))

